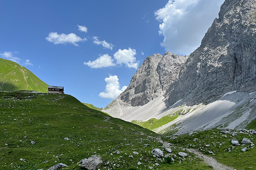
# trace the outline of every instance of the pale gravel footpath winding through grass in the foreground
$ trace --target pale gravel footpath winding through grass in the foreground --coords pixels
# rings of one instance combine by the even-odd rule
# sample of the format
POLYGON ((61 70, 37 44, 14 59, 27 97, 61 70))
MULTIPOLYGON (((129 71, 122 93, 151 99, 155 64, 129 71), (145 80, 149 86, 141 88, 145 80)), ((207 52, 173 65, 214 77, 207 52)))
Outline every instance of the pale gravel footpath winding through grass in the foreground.
POLYGON ((201 159, 204 159, 204 162, 210 166, 213 167, 214 170, 234 170, 232 167, 228 167, 224 164, 218 163, 214 158, 206 156, 197 150, 194 149, 187 149, 189 152, 194 153, 195 155, 201 157, 201 159))

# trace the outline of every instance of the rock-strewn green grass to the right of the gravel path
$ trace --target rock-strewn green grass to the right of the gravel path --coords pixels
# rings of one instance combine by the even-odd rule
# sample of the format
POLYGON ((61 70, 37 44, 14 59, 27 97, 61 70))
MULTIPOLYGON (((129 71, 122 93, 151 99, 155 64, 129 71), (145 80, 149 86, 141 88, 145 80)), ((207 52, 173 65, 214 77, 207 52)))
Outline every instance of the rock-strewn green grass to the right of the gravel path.
MULTIPOLYGON (((253 128, 255 129, 256 126, 253 126, 253 128)), ((237 133, 236 136, 231 136, 230 134, 221 133, 221 130, 207 130, 192 135, 185 134, 172 139, 170 142, 179 147, 199 150, 208 156, 214 157, 222 164, 234 167, 236 170, 254 170, 256 169, 256 147, 241 143, 240 146, 233 146, 230 142, 232 139, 241 142, 243 138, 248 138, 253 144, 256 144, 256 135, 237 133), (198 141, 194 142, 195 138, 198 141), (208 144, 209 146, 206 146, 208 144), (249 148, 249 150, 242 152, 241 149, 244 147, 249 148), (209 150, 215 155, 210 154, 209 150)))

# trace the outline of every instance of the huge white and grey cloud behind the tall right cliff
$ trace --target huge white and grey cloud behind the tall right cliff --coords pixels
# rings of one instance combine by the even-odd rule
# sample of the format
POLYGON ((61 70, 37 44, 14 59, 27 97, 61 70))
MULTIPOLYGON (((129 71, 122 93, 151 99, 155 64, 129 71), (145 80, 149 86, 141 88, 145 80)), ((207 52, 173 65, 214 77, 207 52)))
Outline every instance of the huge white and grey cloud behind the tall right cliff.
POLYGON ((224 0, 169 0, 155 11, 166 51, 190 54, 199 47, 224 0))

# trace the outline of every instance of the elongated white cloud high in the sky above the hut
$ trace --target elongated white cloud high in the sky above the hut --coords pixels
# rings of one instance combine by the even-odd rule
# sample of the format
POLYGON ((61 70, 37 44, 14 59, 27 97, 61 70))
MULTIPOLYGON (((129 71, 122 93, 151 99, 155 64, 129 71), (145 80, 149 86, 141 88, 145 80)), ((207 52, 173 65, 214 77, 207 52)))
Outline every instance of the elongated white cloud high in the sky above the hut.
POLYGON ((86 41, 86 38, 81 38, 74 33, 70 34, 58 34, 57 32, 51 32, 48 37, 45 38, 47 41, 52 42, 53 44, 73 44, 79 46, 77 42, 86 41))

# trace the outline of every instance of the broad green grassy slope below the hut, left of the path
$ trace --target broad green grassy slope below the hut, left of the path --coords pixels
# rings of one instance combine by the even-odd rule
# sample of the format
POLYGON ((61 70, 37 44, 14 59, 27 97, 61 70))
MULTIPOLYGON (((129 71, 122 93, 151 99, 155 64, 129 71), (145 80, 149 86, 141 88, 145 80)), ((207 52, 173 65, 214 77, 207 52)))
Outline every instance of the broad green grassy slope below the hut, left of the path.
MULTIPOLYGON (((158 170, 212 169, 195 157, 192 161, 177 157, 173 164, 157 160, 149 152, 162 148, 157 138, 163 135, 88 108, 70 95, 0 92, 0 117, 0 169, 4 170, 45 170, 60 162, 67 169, 80 170, 79 161, 95 154, 102 156, 103 163, 110 161, 101 170, 144 170, 156 161, 158 170), (111 155, 115 150, 121 154, 111 155)), ((180 152, 172 150, 175 155, 180 152)))

